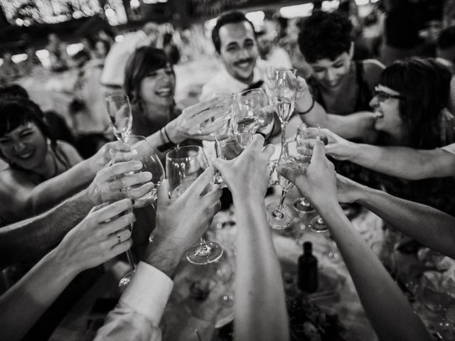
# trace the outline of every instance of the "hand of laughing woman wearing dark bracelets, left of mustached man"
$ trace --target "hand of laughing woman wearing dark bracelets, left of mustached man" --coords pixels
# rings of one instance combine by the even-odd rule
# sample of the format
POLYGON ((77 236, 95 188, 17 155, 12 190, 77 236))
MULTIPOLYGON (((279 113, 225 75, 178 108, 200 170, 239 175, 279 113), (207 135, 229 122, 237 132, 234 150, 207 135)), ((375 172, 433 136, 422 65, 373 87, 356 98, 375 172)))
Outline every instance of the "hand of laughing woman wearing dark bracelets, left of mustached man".
POLYGON ((171 141, 176 144, 190 138, 215 141, 210 134, 220 129, 220 125, 205 122, 219 122, 224 118, 226 110, 225 105, 217 98, 199 102, 183 109, 176 119, 166 125, 166 131, 171 141))

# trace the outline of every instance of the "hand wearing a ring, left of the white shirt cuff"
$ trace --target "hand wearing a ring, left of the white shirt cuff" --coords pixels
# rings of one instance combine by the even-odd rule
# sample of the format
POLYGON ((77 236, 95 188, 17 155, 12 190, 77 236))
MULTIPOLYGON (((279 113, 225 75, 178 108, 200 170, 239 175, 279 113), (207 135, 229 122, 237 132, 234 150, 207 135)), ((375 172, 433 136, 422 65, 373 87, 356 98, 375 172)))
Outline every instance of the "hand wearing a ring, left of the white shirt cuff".
POLYGON ((56 259, 75 274, 100 265, 132 246, 131 231, 127 228, 135 220, 132 201, 123 199, 97 208, 70 230, 55 249, 56 259))

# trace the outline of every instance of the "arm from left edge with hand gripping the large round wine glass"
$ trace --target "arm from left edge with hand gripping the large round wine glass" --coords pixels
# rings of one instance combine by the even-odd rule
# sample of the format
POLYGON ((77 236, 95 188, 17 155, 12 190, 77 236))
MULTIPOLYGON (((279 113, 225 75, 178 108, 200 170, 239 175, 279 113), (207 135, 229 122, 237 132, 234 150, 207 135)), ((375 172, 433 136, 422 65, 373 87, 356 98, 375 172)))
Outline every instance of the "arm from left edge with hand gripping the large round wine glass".
POLYGON ((88 188, 60 205, 36 217, 1 227, 0 269, 43 256, 55 247, 95 205, 123 197, 137 199, 148 193, 152 187, 151 183, 129 191, 119 191, 127 185, 141 184, 150 180, 150 176, 145 172, 118 178, 119 175, 138 171, 141 167, 139 161, 129 161, 102 169, 88 188))

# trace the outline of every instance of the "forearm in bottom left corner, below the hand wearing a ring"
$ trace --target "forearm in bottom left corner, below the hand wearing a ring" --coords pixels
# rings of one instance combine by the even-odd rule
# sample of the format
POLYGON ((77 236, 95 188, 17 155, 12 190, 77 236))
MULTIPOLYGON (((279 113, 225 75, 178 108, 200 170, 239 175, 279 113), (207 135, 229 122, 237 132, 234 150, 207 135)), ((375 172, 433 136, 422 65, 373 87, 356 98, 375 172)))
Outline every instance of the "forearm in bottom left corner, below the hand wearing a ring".
POLYGON ((0 340, 21 340, 68 286, 77 271, 64 265, 54 249, 0 297, 0 340))

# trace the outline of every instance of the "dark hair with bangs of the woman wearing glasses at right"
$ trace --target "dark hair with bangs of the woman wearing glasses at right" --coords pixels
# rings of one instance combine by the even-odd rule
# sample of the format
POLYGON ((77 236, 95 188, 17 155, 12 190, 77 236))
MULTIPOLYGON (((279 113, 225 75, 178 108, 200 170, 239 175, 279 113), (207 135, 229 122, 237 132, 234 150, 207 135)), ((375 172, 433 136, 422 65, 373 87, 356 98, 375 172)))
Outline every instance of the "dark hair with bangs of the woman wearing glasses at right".
POLYGON ((385 68, 380 85, 400 92, 400 117, 412 148, 440 146, 441 109, 449 102, 451 74, 432 58, 398 60, 385 68))

